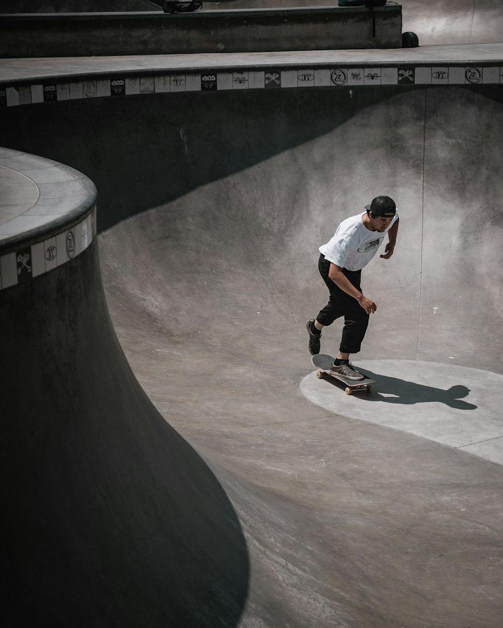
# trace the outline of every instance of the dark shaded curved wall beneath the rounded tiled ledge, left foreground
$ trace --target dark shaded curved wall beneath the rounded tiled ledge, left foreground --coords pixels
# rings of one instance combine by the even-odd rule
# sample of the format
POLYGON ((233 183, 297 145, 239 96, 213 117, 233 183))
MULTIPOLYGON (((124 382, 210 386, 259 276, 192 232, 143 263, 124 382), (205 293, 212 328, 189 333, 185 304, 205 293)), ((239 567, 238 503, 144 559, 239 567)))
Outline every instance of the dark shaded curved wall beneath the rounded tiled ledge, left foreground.
POLYGON ((250 571, 240 522, 131 372, 96 242, 1 291, 0 324, 7 625, 238 625, 250 571))

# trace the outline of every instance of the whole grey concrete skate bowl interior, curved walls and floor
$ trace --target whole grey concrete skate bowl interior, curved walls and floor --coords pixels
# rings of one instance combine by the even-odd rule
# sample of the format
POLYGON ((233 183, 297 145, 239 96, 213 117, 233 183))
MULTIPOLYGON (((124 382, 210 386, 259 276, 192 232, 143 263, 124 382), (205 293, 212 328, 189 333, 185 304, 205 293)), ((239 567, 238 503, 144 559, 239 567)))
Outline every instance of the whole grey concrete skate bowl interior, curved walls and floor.
POLYGON ((428 425, 484 424, 489 380, 497 407, 499 82, 138 93, 9 107, 1 130, 96 183, 100 232, 0 292, 27 354, 3 352, 11 617, 496 628, 503 432, 492 416, 473 455, 428 425), (353 361, 388 401, 325 386, 328 406, 302 394, 318 246, 379 193, 399 242, 363 271, 378 311, 353 361), (386 423, 397 380, 417 399, 438 373, 466 408, 386 423))

